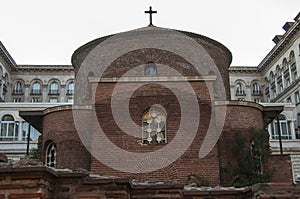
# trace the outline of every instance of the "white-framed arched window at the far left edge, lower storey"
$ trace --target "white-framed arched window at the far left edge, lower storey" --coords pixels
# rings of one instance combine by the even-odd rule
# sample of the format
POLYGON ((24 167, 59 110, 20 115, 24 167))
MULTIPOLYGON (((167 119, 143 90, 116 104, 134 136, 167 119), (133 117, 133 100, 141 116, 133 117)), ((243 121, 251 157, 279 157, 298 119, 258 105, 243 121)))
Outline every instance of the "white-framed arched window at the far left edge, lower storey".
POLYGON ((1 118, 0 140, 18 140, 19 123, 15 122, 13 116, 4 115, 1 118))

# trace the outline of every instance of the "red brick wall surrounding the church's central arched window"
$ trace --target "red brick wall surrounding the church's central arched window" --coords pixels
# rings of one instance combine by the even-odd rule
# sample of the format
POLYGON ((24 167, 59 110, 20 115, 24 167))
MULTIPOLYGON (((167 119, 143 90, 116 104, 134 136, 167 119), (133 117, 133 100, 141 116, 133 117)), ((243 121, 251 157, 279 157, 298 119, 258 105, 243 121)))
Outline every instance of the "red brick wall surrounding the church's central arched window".
MULTIPOLYGON (((127 90, 131 90, 131 86, 134 83, 126 83, 128 87, 123 89, 121 93, 114 95, 114 99, 118 99, 118 95, 124 95, 127 90), (127 89, 127 90, 126 90, 127 89)), ((185 103, 189 104, 190 93, 188 93, 184 85, 180 82, 172 82, 173 86, 176 87, 181 94, 184 96, 185 103)), ((131 152, 146 153, 156 151, 166 144, 160 145, 148 145, 141 146, 141 139, 132 137, 125 134, 119 129, 117 124, 114 122, 114 118, 111 112, 111 95, 114 87, 114 83, 103 83, 98 85, 96 93, 96 113, 98 121, 106 133, 106 136, 118 147, 131 152)), ((122 177, 134 177, 140 180, 177 180, 180 182, 187 182, 187 176, 192 173, 196 173, 202 177, 207 178, 212 185, 219 184, 219 166, 217 150, 214 148, 205 159, 199 159, 199 149, 203 142, 203 138, 206 135, 208 125, 211 118, 211 105, 209 103, 209 94, 206 84, 204 82, 192 83, 196 94, 199 96, 198 103, 200 107, 200 125, 196 138, 189 149, 174 163, 166 168, 160 169, 155 172, 145 174, 130 174, 123 173, 107 166, 103 165, 95 158, 92 159, 91 171, 110 174, 122 177)), ((118 103, 124 104, 123 101, 119 100, 118 103)), ((181 110, 180 104, 176 96, 167 88, 164 88, 158 84, 148 84, 137 89, 130 98, 129 110, 132 120, 137 124, 142 124, 142 116, 149 107, 154 104, 160 104, 165 108, 167 113, 167 140, 168 143, 172 141, 176 132, 179 128, 181 110)), ((119 112, 122 115, 123 113, 119 112)), ((192 117, 192 116, 191 116, 192 117)), ((191 120, 195 118, 190 118, 191 120)), ((141 132, 141 129, 140 129, 141 132)), ((98 146, 101 144, 96 143, 93 140, 92 146, 98 146)), ((182 144, 182 143, 180 143, 182 144)), ((95 151, 94 151, 95 152, 95 151)), ((114 158, 113 151, 111 152, 111 158, 114 158)), ((126 157, 124 157, 126 159, 126 157)), ((120 160, 122 161, 122 160, 120 160)), ((155 161, 155 160, 154 160, 155 161)), ((120 162, 121 164, 121 162, 120 162)))

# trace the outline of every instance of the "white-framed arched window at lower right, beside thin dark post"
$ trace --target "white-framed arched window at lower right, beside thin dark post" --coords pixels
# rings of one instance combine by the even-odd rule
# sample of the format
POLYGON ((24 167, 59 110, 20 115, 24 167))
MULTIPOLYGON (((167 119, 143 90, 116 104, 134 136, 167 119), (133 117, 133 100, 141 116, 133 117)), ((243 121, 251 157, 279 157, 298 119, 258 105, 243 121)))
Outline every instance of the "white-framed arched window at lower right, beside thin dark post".
MULTIPOLYGON (((275 140, 279 139, 277 119, 274 119, 270 125, 271 125, 270 126, 271 139, 275 139, 275 140)), ((283 140, 292 139, 290 121, 288 121, 284 115, 279 116, 279 127, 280 127, 281 139, 283 140)))

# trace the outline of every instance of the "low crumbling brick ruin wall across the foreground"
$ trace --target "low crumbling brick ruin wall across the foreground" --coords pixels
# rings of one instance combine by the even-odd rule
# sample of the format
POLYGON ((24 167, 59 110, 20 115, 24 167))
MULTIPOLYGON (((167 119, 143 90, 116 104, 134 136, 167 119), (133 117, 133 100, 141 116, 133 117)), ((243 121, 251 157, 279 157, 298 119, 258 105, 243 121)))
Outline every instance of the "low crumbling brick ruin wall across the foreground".
POLYGON ((134 183, 125 178, 95 178, 85 172, 54 171, 46 167, 2 167, 0 177, 0 184, 5 185, 0 189, 2 199, 292 199, 300 196, 300 187, 291 183, 256 184, 242 189, 184 190, 182 185, 173 182, 134 183))

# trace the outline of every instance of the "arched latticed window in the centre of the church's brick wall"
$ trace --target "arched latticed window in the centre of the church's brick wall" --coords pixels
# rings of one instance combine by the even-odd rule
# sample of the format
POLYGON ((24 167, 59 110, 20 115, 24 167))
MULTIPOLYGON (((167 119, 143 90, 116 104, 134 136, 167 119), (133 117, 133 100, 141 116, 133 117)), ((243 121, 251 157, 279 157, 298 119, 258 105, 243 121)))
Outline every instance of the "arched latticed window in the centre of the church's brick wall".
POLYGON ((142 118, 144 144, 166 143, 166 115, 159 109, 149 109, 142 118))

